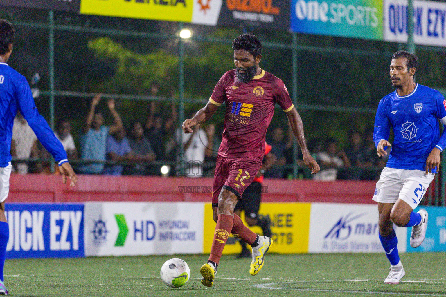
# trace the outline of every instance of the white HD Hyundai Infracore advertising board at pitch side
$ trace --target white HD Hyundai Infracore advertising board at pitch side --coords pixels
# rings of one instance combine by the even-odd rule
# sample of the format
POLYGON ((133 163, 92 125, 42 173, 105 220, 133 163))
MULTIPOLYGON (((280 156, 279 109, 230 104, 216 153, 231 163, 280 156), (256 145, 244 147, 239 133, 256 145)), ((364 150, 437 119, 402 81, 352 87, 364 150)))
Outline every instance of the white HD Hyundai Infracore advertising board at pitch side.
POLYGON ((204 203, 85 203, 85 255, 203 252, 204 203))

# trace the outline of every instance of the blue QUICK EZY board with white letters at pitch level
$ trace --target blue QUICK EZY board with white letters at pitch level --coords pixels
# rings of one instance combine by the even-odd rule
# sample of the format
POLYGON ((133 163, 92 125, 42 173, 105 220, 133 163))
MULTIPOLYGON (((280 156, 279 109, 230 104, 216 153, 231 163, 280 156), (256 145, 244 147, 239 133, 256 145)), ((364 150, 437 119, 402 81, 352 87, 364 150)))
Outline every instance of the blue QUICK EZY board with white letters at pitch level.
POLYGON ((6 203, 6 257, 83 257, 83 204, 6 203))

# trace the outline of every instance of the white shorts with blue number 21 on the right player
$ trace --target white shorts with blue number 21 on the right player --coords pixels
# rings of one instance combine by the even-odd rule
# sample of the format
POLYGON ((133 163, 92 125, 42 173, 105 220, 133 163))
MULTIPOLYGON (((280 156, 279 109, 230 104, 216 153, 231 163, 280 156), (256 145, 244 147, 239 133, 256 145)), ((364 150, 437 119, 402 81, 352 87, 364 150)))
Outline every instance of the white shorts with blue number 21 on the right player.
POLYGON ((379 203, 395 203, 401 199, 415 209, 434 177, 434 173, 426 175, 422 170, 384 167, 372 199, 379 203))

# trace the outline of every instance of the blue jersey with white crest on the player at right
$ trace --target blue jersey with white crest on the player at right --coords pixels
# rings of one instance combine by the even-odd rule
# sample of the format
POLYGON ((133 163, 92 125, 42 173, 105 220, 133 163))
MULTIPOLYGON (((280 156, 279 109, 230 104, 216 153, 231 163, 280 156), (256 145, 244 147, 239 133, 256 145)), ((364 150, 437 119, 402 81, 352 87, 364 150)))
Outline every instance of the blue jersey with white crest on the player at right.
POLYGON ((386 166, 424 171, 432 149, 437 147, 443 151, 446 146, 446 133, 440 138, 438 120, 446 125, 445 98, 424 85, 417 84, 415 90, 404 97, 394 91, 381 99, 373 140, 378 146, 381 139, 388 140, 390 128, 393 129, 392 151, 386 166))

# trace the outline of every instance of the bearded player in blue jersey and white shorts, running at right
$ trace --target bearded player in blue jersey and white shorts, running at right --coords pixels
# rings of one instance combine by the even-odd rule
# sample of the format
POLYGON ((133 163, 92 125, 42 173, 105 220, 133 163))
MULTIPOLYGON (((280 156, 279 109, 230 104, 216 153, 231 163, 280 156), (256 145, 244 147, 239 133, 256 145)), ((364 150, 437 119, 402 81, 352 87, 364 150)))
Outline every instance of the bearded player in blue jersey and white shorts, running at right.
POLYGON ((413 210, 434 179, 440 153, 446 147, 446 133, 440 137, 438 124, 446 125, 445 98, 437 90, 415 83, 417 66, 417 55, 406 51, 393 54, 390 79, 396 90, 381 99, 375 118, 373 140, 378 156, 387 155, 386 147, 392 146, 373 195, 380 213, 380 241, 391 264, 386 284, 398 284, 405 275, 393 224, 412 227, 410 245, 421 245, 428 213, 413 210), (388 142, 390 129, 393 144, 388 142))

